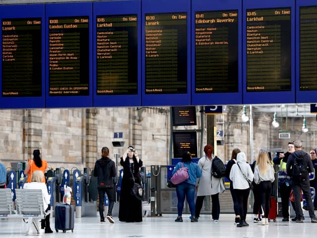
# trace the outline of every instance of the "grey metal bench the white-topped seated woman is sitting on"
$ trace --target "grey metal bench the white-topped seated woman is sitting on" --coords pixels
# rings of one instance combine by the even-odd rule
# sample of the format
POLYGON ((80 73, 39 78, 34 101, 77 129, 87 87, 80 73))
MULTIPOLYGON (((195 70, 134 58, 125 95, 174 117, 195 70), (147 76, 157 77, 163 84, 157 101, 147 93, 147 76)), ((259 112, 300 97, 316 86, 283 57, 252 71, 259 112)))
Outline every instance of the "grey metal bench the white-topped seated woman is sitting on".
POLYGON ((26 234, 29 234, 31 224, 34 225, 37 233, 40 229, 37 220, 45 219, 45 216, 52 212, 45 212, 43 204, 43 195, 41 189, 15 189, 16 195, 16 211, 20 218, 28 223, 26 234))

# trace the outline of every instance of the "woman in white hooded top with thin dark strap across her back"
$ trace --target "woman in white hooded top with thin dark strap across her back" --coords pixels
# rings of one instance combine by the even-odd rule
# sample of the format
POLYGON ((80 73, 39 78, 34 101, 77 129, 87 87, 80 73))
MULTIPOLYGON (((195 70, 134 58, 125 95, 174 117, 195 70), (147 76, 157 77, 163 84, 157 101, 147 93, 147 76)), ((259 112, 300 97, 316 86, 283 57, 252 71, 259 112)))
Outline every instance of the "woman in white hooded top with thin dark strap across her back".
POLYGON ((233 189, 237 195, 239 204, 240 223, 237 227, 248 227, 249 224, 246 223, 246 215, 248 212, 250 185, 247 179, 251 182, 253 180, 253 173, 250 165, 247 164, 247 157, 244 152, 237 154, 237 163, 232 166, 229 177, 233 183, 233 189))

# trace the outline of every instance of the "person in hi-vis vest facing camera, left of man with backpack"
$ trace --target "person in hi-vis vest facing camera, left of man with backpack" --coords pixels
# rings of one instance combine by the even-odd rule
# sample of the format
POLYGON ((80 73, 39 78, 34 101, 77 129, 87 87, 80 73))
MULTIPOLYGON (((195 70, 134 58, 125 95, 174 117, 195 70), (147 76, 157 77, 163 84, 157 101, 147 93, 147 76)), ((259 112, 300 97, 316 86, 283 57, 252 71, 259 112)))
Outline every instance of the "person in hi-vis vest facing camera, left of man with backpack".
MULTIPOLYGON (((276 156, 273 159, 273 163, 275 165, 279 165, 277 179, 278 179, 278 188, 279 188, 281 203, 282 203, 282 214, 283 214, 282 222, 289 221, 289 212, 288 212, 289 195, 291 193, 292 187, 291 187, 290 177, 286 173, 286 164, 287 164, 289 156, 295 152, 293 142, 288 142, 287 149, 288 151, 286 153, 279 153, 278 156, 276 156)), ((291 202, 291 204, 294 208, 294 211, 296 211, 294 202, 291 202)))

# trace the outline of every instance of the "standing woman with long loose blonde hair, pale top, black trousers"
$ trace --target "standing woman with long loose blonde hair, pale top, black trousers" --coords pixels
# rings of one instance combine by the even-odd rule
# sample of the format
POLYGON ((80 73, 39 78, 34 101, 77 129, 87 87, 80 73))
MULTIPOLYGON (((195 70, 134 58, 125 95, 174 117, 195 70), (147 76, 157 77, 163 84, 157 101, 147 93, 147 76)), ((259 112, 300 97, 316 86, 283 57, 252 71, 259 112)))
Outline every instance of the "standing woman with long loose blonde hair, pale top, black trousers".
POLYGON ((265 150, 260 150, 256 167, 254 169, 254 182, 259 184, 259 197, 264 209, 265 221, 259 225, 268 225, 269 197, 271 195, 271 183, 274 181, 274 169, 269 162, 268 154, 265 150))

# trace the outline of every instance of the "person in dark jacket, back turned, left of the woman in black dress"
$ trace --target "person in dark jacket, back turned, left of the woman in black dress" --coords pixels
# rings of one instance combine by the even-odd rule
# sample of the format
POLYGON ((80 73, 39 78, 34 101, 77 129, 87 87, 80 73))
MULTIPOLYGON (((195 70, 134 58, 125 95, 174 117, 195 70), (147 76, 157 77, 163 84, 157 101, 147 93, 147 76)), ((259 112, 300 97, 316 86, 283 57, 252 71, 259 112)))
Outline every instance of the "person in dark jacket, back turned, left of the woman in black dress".
POLYGON ((114 223, 112 218, 112 208, 114 204, 113 178, 116 176, 115 164, 111 159, 108 158, 109 149, 107 147, 103 147, 101 152, 102 158, 96 161, 94 169, 94 176, 98 177, 100 222, 105 222, 104 198, 106 192, 109 199, 109 207, 106 218, 110 223, 114 223))

